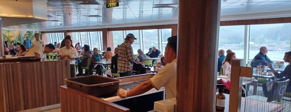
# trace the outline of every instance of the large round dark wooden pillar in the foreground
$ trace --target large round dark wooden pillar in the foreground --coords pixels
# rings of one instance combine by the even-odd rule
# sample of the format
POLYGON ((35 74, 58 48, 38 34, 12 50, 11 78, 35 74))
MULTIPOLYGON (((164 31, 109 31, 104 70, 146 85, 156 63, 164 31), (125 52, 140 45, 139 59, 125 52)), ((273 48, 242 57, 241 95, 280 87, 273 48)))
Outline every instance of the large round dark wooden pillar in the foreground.
POLYGON ((215 109, 219 0, 179 0, 176 111, 215 109))

